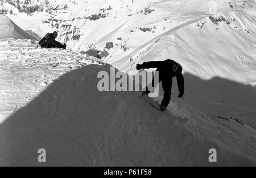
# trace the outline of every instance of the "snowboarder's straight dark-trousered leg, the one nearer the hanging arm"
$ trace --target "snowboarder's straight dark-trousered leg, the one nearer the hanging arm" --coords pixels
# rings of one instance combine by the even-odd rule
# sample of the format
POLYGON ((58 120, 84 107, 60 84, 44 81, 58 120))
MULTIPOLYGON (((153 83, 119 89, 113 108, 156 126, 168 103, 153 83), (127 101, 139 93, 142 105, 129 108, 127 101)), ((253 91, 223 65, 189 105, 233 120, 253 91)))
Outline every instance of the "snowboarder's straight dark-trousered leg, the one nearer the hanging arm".
POLYGON ((162 80, 162 85, 163 85, 164 97, 160 106, 163 107, 163 110, 164 110, 166 109, 166 107, 168 106, 171 100, 172 77, 164 78, 162 80))

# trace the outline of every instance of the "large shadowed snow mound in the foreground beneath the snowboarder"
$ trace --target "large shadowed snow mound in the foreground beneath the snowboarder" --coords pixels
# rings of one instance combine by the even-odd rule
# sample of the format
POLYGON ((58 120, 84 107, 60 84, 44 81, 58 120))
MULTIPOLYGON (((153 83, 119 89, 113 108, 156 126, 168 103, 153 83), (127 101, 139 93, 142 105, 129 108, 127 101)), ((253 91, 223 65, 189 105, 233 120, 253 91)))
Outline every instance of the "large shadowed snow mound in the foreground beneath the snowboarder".
POLYGON ((177 117, 135 92, 99 92, 100 71, 110 65, 65 73, 1 123, 0 165, 256 165, 255 138, 185 106, 177 117))

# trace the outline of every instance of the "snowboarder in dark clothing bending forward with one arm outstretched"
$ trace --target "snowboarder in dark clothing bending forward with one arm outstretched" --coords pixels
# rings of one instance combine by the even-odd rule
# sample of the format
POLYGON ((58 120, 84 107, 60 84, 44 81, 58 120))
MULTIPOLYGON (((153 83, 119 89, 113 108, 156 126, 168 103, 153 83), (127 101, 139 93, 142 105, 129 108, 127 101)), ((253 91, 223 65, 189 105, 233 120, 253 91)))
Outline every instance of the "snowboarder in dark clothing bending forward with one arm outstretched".
MULTIPOLYGON (((149 69, 157 68, 156 71, 159 72, 159 82, 162 81, 164 97, 160 105, 161 110, 166 110, 168 104, 171 100, 171 89, 172 89, 172 77, 177 78, 177 85, 179 88, 179 98, 183 97, 184 94, 184 77, 182 74, 182 67, 180 64, 176 63, 174 60, 167 59, 165 61, 149 61, 142 64, 137 64, 136 69, 149 69)), ((154 78, 152 80, 152 87, 154 87, 154 78)), ((146 91, 142 94, 148 94, 151 91, 146 88, 146 91)))

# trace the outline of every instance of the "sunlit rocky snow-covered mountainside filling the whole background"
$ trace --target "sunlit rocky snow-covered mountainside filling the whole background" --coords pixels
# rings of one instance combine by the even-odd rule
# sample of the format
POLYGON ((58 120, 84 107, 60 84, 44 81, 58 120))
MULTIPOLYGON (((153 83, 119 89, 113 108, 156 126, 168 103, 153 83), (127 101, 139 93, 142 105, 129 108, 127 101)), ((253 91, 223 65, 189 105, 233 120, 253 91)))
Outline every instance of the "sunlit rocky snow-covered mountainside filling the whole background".
POLYGON ((204 79, 255 85, 252 0, 2 1, 2 9, 15 12, 9 16, 24 30, 41 37, 57 30, 69 48, 97 48, 105 61, 130 74, 139 62, 171 58, 204 79), (32 15, 24 13, 29 8, 32 15))

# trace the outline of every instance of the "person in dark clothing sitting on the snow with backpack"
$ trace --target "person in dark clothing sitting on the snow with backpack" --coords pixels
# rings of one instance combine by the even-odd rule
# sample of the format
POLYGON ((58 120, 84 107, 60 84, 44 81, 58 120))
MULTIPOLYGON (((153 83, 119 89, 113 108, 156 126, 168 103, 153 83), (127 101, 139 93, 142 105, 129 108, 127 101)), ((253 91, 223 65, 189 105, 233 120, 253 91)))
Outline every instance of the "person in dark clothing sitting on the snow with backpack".
POLYGON ((54 31, 52 34, 47 33, 46 36, 38 43, 42 48, 63 48, 66 49, 67 45, 64 43, 57 42, 55 39, 58 34, 54 31))

